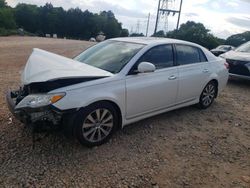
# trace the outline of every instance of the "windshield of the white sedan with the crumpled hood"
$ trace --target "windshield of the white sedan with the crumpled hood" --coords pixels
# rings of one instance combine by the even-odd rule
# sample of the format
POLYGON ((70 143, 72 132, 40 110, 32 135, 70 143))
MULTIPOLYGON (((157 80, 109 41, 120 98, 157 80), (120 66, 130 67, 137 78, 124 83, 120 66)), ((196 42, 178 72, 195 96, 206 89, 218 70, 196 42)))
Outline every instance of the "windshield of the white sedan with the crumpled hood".
POLYGON ((115 74, 143 47, 143 44, 107 40, 87 49, 74 59, 115 74))

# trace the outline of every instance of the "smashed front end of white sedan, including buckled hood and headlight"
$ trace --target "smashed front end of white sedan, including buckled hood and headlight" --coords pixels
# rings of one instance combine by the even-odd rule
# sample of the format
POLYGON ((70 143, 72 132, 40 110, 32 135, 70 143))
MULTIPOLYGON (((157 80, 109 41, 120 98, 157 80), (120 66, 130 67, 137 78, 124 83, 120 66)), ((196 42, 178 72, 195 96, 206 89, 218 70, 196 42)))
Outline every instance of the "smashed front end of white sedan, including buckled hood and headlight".
POLYGON ((7 104, 17 119, 33 128, 37 125, 62 125, 62 128, 66 126, 68 129, 64 122, 69 122, 77 109, 61 110, 53 105, 66 95, 65 87, 112 75, 94 66, 34 49, 22 73, 23 86, 6 94, 7 104), (58 89, 64 91, 62 88, 65 92, 53 92, 58 89))

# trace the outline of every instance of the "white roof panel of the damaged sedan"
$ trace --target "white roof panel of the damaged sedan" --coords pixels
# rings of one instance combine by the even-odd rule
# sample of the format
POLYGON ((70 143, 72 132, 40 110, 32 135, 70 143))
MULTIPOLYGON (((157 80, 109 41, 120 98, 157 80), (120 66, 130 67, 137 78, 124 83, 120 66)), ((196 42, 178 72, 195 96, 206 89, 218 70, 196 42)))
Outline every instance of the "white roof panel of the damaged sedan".
POLYGON ((162 44, 162 43, 181 43, 181 44, 187 44, 187 45, 193 45, 193 46, 199 46, 192 42, 187 42, 183 40, 177 40, 177 39, 170 39, 170 38, 158 38, 158 37, 121 37, 121 38, 113 38, 110 39, 113 41, 121 41, 121 42, 131 42, 131 43, 138 43, 138 44, 162 44))

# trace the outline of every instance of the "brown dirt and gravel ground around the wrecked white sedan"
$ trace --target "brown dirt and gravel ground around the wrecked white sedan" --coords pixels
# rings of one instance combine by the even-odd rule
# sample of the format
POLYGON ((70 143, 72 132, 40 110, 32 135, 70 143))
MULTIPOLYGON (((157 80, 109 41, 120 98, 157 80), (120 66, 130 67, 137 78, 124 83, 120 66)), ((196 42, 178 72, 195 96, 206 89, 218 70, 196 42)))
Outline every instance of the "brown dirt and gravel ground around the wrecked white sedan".
POLYGON ((31 133, 7 109, 32 51, 73 57, 94 43, 0 37, 0 187, 250 187, 250 82, 230 80, 207 110, 193 106, 118 131, 92 149, 31 133))

